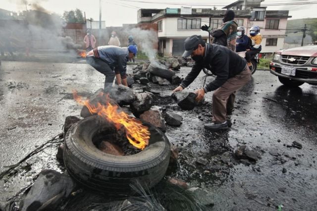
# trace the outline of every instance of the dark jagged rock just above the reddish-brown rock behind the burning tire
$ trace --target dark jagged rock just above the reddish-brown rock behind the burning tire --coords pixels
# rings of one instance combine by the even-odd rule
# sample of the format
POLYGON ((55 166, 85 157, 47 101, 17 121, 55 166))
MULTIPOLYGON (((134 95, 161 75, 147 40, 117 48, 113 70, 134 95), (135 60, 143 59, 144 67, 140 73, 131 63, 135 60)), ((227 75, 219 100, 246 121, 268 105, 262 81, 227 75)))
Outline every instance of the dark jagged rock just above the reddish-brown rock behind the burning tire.
POLYGON ((153 94, 149 92, 137 93, 135 94, 135 101, 130 104, 130 107, 135 113, 135 115, 139 115, 140 113, 149 110, 153 105, 153 94))

